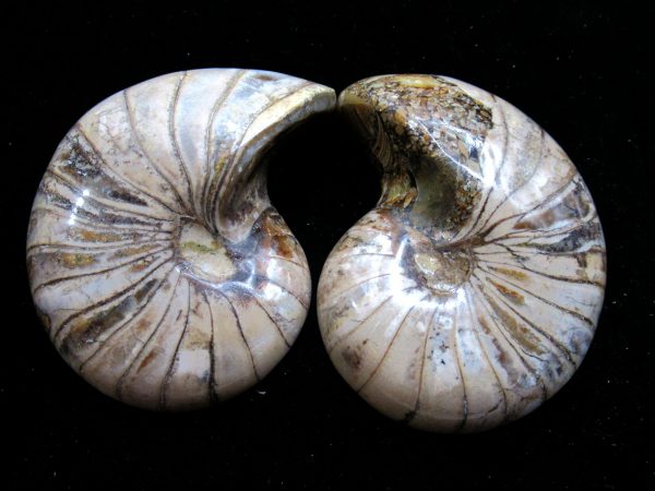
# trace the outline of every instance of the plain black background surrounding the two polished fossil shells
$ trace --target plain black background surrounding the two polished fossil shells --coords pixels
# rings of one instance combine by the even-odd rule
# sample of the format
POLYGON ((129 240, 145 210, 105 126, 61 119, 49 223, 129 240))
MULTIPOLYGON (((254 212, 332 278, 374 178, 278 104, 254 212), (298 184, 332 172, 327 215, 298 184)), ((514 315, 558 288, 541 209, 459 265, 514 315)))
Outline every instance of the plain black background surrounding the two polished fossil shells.
MULTIPOLYGON (((11 288, 0 394, 12 488, 654 483, 654 106, 646 76, 654 57, 645 44, 652 11, 629 2, 550 1, 100 3, 23 2, 4 12, 2 165, 10 176, 2 182, 9 224, 2 242, 11 288), (75 375, 40 327, 26 282, 24 237, 38 181, 58 142, 93 105, 146 79, 205 67, 273 70, 337 91, 373 74, 446 74, 496 93, 541 124, 588 184, 608 247, 596 339, 570 383, 536 412, 491 432, 418 432, 378 415, 338 376, 313 307, 278 367, 210 410, 133 409, 75 375)), ((305 248, 314 288, 332 246, 378 192, 366 151, 334 115, 309 121, 277 146, 270 193, 305 248)))

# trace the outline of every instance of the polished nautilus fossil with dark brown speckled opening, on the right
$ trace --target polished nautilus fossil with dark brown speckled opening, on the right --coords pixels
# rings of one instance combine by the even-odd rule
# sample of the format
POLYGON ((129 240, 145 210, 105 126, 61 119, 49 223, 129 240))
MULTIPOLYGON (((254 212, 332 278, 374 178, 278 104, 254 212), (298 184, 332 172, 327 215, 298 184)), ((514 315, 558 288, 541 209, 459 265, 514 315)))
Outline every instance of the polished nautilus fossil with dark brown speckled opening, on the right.
POLYGON ((580 173, 529 118, 453 79, 371 77, 338 107, 383 176, 319 282, 336 369, 425 430, 532 411, 582 362, 603 303, 605 242, 580 173))

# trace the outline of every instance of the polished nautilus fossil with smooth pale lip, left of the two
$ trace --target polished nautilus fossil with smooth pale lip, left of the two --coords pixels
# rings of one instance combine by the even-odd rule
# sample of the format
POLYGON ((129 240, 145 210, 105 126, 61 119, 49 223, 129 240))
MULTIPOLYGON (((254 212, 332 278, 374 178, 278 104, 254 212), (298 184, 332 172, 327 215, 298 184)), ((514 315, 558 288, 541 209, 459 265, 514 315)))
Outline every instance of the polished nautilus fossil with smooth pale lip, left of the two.
POLYGON ((61 142, 32 209, 36 308, 98 390, 188 409, 262 379, 305 321, 305 254, 262 157, 329 110, 331 88, 273 72, 171 73, 118 93, 61 142))

